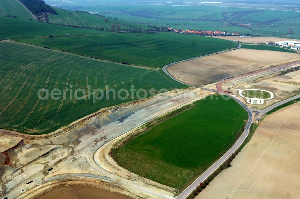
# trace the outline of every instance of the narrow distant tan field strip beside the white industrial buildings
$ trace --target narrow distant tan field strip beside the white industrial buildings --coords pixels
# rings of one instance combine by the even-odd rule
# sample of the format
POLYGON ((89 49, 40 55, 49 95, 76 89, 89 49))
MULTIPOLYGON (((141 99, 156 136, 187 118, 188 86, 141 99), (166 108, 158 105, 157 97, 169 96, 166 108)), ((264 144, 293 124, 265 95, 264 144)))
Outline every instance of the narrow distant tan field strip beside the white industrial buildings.
POLYGON ((245 43, 268 43, 270 41, 300 41, 297 39, 279 38, 279 37, 218 37, 220 39, 240 41, 245 43))

